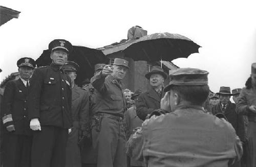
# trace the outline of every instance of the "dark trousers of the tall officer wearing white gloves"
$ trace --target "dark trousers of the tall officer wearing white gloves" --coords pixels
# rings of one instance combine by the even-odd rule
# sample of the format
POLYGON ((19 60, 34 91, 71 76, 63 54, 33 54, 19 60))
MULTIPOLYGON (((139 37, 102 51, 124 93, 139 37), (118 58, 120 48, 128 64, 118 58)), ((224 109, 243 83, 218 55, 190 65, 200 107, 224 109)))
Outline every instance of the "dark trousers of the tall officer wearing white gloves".
POLYGON ((65 166, 68 129, 42 126, 41 131, 33 131, 32 167, 65 166))

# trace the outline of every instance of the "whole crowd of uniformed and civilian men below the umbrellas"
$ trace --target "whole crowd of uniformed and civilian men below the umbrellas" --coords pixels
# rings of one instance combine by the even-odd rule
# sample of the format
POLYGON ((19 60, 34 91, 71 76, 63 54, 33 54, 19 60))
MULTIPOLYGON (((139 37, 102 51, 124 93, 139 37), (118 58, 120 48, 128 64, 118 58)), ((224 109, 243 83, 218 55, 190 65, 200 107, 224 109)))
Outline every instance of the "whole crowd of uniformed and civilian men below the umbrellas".
POLYGON ((256 63, 246 87, 232 93, 221 87, 208 97, 205 70, 168 76, 153 66, 145 75, 151 88, 131 95, 122 84, 128 61, 96 64, 80 88, 72 44, 55 39, 49 50, 50 66, 21 58, 20 79, 5 87, 4 167, 256 166, 256 63))

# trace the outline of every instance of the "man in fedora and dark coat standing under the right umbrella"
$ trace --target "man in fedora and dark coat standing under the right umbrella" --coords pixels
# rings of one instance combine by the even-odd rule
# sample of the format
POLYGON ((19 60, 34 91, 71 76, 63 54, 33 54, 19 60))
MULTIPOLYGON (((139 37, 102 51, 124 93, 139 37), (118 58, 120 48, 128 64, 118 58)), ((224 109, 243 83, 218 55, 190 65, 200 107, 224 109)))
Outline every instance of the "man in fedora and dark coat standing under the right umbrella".
POLYGON ((139 96, 137 105, 137 115, 143 121, 147 114, 160 109, 160 101, 164 96, 163 83, 168 75, 160 66, 153 66, 145 77, 150 80, 151 88, 139 96))

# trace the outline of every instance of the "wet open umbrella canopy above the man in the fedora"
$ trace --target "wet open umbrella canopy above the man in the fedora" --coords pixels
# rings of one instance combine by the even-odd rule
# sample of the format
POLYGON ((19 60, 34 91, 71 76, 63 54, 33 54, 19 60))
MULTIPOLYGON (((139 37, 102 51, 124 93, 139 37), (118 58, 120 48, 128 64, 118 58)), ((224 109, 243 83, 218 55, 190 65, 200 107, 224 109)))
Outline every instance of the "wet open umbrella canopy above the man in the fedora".
POLYGON ((179 34, 155 33, 143 36, 122 52, 134 61, 172 61, 199 53, 197 43, 179 34))

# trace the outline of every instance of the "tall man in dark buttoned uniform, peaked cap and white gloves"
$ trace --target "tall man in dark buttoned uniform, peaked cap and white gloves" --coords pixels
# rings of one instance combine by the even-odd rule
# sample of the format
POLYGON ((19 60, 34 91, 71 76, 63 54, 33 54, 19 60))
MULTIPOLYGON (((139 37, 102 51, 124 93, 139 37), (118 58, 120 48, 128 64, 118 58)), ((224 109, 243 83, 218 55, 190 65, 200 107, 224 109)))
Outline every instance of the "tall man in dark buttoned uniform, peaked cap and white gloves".
POLYGON ((32 167, 65 166, 66 144, 72 121, 71 80, 61 69, 72 44, 64 39, 50 42, 52 63, 31 77, 28 96, 30 128, 33 130, 32 167))

